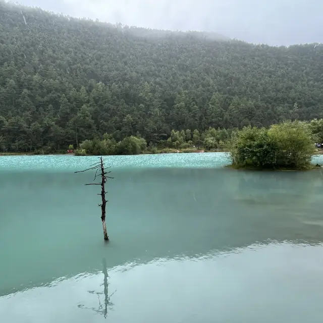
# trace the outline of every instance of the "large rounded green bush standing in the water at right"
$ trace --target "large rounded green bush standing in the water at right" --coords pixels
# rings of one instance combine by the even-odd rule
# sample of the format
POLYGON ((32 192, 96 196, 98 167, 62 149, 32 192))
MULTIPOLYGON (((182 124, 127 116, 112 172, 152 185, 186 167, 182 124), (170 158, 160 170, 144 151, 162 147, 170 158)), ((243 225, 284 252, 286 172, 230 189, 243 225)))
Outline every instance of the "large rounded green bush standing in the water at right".
POLYGON ((307 169, 314 146, 305 122, 287 121, 270 129, 244 127, 232 133, 227 148, 233 166, 307 169))

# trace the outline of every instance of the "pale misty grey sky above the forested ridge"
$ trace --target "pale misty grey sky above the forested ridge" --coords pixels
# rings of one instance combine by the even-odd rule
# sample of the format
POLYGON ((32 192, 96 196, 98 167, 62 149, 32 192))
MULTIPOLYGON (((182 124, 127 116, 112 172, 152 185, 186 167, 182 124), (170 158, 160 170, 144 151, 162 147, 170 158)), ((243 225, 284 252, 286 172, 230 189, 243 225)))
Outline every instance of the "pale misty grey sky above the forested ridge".
POLYGON ((213 31, 271 45, 323 42, 323 0, 19 0, 74 17, 213 31))

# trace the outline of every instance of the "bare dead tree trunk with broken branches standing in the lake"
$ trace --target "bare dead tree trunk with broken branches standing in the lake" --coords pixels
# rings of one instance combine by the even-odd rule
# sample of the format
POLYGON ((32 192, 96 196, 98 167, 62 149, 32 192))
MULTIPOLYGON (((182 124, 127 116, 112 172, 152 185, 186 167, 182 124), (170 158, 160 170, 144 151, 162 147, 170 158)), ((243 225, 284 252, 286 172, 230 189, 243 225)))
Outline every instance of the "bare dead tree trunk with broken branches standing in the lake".
POLYGON ((107 176, 107 174, 110 174, 111 172, 105 172, 102 157, 100 157, 100 161, 98 161, 97 163, 95 163, 93 165, 90 165, 88 169, 86 169, 84 171, 74 172, 74 173, 83 173, 83 172, 87 172, 87 171, 91 171, 91 170, 96 170, 93 182, 95 181, 95 179, 97 177, 101 176, 101 183, 91 183, 91 184, 85 184, 85 185, 100 185, 101 186, 101 193, 97 194, 97 195, 101 195, 102 203, 98 204, 98 206, 101 206, 101 220, 102 220, 102 227, 103 227, 103 237, 104 237, 104 240, 107 241, 107 240, 109 240, 109 236, 107 235, 106 224, 105 224, 105 206, 106 206, 106 202, 107 202, 107 200, 105 199, 105 193, 107 193, 105 191, 105 183, 108 178, 113 179, 113 177, 107 176))

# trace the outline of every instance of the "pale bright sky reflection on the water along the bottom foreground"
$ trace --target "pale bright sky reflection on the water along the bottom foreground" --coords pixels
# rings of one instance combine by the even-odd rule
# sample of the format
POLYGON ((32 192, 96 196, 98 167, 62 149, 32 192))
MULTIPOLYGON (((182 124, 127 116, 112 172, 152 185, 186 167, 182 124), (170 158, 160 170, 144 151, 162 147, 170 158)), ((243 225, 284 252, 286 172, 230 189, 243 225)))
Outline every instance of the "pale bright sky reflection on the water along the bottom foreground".
POLYGON ((118 323, 321 322, 322 244, 254 243, 110 270, 108 260, 95 275, 0 297, 0 317, 21 323, 107 317, 118 323))

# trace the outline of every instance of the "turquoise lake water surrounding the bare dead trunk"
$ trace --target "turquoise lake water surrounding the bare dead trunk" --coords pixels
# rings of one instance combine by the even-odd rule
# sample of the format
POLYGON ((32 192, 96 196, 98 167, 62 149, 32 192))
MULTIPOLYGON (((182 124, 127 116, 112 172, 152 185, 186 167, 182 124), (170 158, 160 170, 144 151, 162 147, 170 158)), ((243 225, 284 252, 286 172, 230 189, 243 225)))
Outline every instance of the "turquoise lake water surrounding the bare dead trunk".
POLYGON ((321 322, 321 169, 104 159, 107 244, 96 157, 0 157, 0 321, 321 322))

